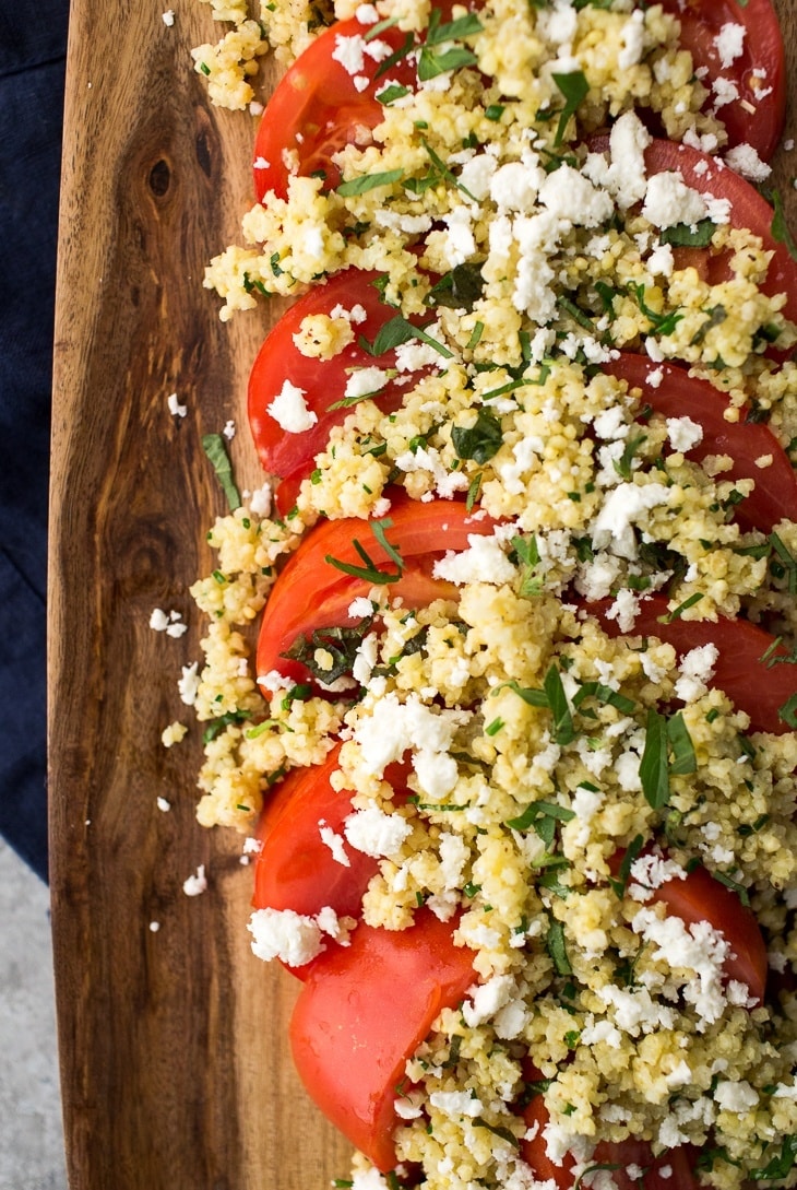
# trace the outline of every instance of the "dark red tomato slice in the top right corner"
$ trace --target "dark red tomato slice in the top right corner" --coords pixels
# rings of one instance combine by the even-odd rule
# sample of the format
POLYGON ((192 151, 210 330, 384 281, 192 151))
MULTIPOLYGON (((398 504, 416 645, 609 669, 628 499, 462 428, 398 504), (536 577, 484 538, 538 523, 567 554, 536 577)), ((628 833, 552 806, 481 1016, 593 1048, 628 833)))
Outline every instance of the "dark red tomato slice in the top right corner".
MULTIPOLYGON (((739 98, 717 109, 729 144, 749 144, 761 161, 770 161, 786 114, 785 52, 771 0, 663 0, 661 7, 680 20, 680 44, 696 70, 708 70, 705 86, 723 79, 736 87, 739 98), (741 52, 726 65, 717 37, 727 25, 741 25, 743 39, 741 52)), ((716 98, 707 101, 709 109, 716 98)))

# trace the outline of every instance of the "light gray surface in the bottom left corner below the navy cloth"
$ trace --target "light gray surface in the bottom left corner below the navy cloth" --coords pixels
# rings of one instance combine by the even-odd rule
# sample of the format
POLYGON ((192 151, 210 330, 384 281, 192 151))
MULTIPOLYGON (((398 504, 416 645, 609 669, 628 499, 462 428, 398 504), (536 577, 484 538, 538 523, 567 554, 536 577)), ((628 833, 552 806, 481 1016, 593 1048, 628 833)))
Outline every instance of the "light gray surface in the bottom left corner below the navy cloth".
POLYGON ((0 1190, 65 1190, 48 890, 0 839, 0 1190))

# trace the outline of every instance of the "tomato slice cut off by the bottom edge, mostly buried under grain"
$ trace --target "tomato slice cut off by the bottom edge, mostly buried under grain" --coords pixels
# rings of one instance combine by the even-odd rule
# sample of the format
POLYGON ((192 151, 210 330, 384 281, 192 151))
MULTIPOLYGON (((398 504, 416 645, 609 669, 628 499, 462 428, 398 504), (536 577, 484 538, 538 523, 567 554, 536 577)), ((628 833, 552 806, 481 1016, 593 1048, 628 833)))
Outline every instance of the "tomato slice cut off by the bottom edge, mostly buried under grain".
MULTIPOLYGON (((576 1184, 572 1157, 565 1157, 561 1165, 557 1165, 547 1154, 544 1130, 550 1119, 545 1098, 535 1095, 523 1109, 523 1120, 533 1135, 521 1140, 520 1155, 531 1165, 538 1182, 552 1180, 557 1190, 572 1190, 576 1184)), ((686 1145, 666 1150, 654 1158, 647 1141, 629 1136, 621 1141, 602 1140, 589 1166, 611 1167, 617 1190, 639 1190, 640 1185, 645 1190, 697 1190, 696 1158, 697 1151, 686 1145), (629 1175, 629 1165, 645 1170, 642 1182, 629 1175)))

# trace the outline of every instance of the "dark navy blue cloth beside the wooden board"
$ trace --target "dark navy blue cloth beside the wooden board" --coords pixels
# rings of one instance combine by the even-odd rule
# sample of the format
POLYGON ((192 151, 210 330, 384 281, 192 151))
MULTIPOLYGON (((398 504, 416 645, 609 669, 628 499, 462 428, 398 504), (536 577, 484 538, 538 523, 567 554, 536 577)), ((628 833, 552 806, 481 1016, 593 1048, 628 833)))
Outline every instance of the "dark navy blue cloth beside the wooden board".
POLYGON ((0 10, 0 832, 46 878, 45 582, 68 0, 0 10))

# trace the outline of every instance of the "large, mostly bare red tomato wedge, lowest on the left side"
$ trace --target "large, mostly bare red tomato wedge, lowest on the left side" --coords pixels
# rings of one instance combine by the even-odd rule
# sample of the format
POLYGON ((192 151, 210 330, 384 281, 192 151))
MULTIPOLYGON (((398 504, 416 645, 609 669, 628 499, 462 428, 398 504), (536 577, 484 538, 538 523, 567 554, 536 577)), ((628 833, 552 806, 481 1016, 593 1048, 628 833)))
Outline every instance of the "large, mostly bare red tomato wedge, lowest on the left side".
POLYGON ((472 951, 428 909, 409 929, 360 925, 351 945, 315 960, 290 1021, 294 1063, 310 1098, 385 1172, 396 1163, 396 1086, 443 1008, 475 982, 472 951))

